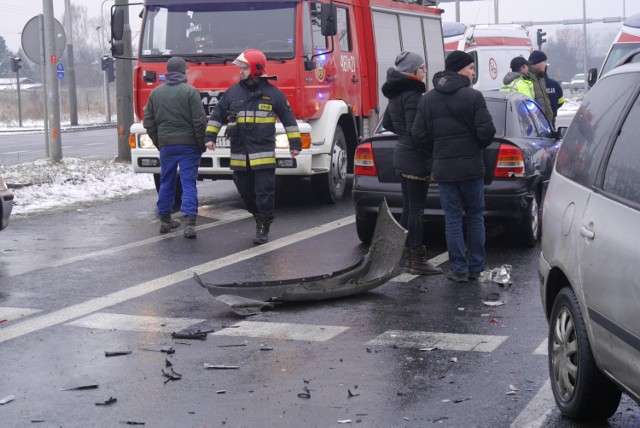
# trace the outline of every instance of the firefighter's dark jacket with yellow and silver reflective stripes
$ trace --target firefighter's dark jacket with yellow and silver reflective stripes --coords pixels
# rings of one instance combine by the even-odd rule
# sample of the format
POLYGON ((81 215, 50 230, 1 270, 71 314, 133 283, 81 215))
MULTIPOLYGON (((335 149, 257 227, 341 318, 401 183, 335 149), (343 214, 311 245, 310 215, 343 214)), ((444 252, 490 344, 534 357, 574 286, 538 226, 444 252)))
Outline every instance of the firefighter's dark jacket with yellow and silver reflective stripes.
POLYGON ((240 81, 224 93, 211 113, 205 141, 215 143, 220 128, 227 125, 232 170, 275 168, 276 116, 284 125, 290 150, 301 150, 296 118, 280 89, 266 78, 256 85, 240 81))

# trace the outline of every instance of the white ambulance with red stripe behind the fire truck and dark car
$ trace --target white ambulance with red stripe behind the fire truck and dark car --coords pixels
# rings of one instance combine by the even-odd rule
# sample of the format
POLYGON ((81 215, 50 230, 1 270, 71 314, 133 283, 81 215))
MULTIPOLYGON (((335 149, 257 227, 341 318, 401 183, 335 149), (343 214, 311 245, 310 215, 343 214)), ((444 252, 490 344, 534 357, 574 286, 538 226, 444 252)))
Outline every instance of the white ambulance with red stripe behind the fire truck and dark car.
POLYGON ((529 31, 522 25, 470 25, 443 23, 445 55, 460 50, 476 63, 478 90, 500 89, 502 79, 511 71, 509 63, 516 56, 529 58, 532 50, 529 31))

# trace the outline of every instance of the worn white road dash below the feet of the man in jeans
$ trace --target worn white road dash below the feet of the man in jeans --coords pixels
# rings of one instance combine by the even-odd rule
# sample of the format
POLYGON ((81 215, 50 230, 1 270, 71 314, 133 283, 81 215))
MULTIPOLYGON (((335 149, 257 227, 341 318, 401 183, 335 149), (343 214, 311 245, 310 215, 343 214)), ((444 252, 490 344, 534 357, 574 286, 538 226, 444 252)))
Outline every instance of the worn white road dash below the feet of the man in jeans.
POLYGON ((479 334, 437 333, 427 331, 388 330, 367 345, 401 348, 438 348, 448 351, 492 352, 508 336, 486 336, 479 334))

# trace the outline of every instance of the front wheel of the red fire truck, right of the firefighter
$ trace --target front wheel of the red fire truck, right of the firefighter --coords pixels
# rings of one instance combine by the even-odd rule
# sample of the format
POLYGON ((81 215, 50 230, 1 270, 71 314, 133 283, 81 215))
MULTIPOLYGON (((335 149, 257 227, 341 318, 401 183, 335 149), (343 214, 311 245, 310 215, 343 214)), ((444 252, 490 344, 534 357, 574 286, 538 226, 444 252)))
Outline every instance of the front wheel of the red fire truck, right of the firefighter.
POLYGON ((336 126, 331 147, 331 165, 328 174, 311 177, 316 197, 324 203, 339 202, 347 185, 347 140, 340 125, 336 126))

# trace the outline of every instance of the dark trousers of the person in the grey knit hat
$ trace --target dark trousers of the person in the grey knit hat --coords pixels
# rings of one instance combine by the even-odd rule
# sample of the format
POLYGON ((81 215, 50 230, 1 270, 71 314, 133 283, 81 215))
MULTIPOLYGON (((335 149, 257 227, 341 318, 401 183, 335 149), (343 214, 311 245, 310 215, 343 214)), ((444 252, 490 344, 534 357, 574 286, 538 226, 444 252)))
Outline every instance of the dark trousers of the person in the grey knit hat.
POLYGON ((402 187, 402 216, 400 225, 407 229, 407 247, 415 250, 422 246, 422 216, 427 204, 429 182, 400 176, 402 187))

